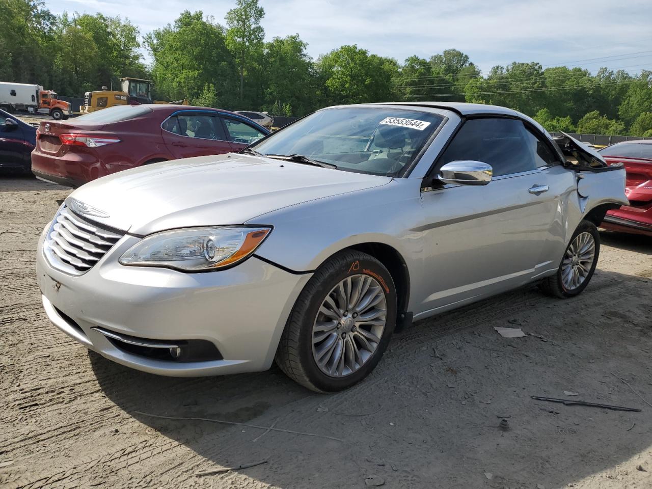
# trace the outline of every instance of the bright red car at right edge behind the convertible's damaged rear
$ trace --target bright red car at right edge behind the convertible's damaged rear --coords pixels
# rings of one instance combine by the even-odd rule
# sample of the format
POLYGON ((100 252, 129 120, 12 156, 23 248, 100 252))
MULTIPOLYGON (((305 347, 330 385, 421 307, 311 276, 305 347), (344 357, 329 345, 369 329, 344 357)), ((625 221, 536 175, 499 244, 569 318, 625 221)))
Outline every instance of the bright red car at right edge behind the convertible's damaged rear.
POLYGON ((652 236, 652 140, 632 140, 600 149, 608 163, 623 162, 629 205, 609 211, 602 228, 652 236))

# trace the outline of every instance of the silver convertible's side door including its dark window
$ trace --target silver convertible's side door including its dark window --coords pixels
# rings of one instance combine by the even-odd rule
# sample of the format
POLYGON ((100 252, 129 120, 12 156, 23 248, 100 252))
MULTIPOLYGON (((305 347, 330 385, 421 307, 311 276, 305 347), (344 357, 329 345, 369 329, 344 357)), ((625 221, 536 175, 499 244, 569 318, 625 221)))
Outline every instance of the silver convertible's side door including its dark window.
POLYGON ((451 161, 476 160, 494 173, 487 185, 440 185, 421 193, 432 276, 424 311, 475 301, 557 267, 544 258, 559 198, 546 169, 556 159, 520 120, 464 123, 436 171, 451 161))

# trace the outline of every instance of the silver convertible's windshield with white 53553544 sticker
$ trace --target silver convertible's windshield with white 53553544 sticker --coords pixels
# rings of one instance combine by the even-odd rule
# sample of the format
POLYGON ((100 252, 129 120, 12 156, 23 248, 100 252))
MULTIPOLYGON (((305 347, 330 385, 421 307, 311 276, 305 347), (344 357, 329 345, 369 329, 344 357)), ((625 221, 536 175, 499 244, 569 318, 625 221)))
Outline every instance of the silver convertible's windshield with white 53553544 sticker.
POLYGON ((263 155, 303 155, 338 170, 396 175, 408 166, 443 117, 393 107, 315 112, 253 145, 263 155))

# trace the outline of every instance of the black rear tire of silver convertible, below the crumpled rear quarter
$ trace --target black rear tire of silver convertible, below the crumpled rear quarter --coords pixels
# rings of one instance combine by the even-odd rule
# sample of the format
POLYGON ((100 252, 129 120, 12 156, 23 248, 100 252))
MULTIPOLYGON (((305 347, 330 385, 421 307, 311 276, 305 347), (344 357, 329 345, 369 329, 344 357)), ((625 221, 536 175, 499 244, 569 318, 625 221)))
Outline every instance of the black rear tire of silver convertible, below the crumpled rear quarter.
POLYGON ((539 287, 544 293, 546 293, 546 295, 552 295, 553 297, 559 297, 560 299, 569 299, 569 297, 575 297, 576 295, 580 295, 580 293, 582 293, 582 291, 586 288, 586 286, 589 285, 589 282, 591 282, 591 277, 593 277, 593 273, 595 272, 595 267, 598 263, 599 256, 600 256, 600 234, 598 233, 598 228, 595 227, 595 224, 593 224, 593 222, 583 220, 582 222, 580 222, 580 225, 572 234, 571 241, 566 246, 566 250, 564 251, 564 256, 561 259, 561 263, 559 263, 559 268, 557 269, 557 273, 554 274, 553 276, 546 278, 543 282, 541 282, 541 284, 539 284, 539 287), (590 244, 593 244, 593 258, 590 264, 586 260, 580 259, 578 263, 580 267, 578 268, 578 265, 572 265, 572 263, 576 263, 576 261, 574 260, 577 260, 577 258, 575 257, 577 256, 581 258, 582 256, 588 256, 587 253, 591 250, 589 246, 589 248, 586 248, 587 252, 585 252, 584 254, 574 253, 574 251, 578 246, 578 241, 576 241, 576 239, 580 235, 582 235, 582 237, 579 240, 580 251, 582 249, 585 249, 590 244), (582 241, 583 239, 587 239, 586 243, 582 241), (585 273, 584 277, 582 278, 582 281, 576 286, 573 286, 573 284, 569 284, 570 278, 568 280, 564 280, 565 270, 568 271, 569 261, 570 261, 571 269, 575 268, 581 270, 579 275, 580 277, 582 273, 585 273), (565 267, 565 265, 567 265, 567 267, 565 267))

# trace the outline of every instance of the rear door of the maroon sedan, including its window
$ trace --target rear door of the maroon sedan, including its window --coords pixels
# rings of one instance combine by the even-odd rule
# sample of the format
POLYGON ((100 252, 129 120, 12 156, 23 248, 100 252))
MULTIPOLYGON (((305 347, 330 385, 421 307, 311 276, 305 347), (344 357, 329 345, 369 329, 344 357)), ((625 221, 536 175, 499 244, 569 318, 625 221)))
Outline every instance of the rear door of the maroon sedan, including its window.
POLYGON ((169 117, 161 128, 163 140, 175 158, 231 152, 231 145, 215 113, 183 111, 169 117))

